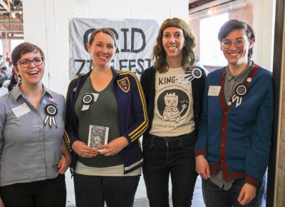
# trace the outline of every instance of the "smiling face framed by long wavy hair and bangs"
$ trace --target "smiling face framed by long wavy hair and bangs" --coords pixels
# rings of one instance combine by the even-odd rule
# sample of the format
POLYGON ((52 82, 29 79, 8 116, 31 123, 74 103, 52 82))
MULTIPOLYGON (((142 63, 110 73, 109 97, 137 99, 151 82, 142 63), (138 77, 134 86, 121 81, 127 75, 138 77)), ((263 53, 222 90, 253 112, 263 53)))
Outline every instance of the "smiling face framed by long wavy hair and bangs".
POLYGON ((163 31, 162 44, 166 52, 166 59, 181 59, 182 61, 182 50, 185 46, 182 29, 167 27, 163 31))

